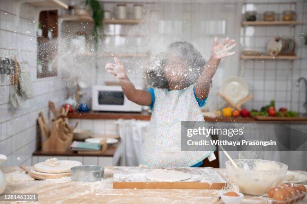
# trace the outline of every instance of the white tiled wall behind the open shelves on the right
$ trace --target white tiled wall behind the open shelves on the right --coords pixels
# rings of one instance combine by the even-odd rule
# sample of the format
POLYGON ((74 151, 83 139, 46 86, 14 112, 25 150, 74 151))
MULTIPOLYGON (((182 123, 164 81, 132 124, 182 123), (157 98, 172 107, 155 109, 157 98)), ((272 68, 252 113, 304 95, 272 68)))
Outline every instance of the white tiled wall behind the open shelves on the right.
MULTIPOLYGON (((307 2, 304 0, 293 1, 252 1, 252 5, 260 16, 266 10, 274 10, 282 13, 285 9, 293 9, 296 12, 297 20, 302 24, 292 26, 248 26, 241 28, 240 38, 243 49, 266 50, 266 43, 275 35, 293 37, 296 42, 296 54, 298 60, 249 60, 244 61, 244 78, 248 81, 249 91, 254 95, 251 102, 246 103, 247 108, 259 108, 269 100, 275 99, 276 106, 286 106, 294 111, 305 112, 303 103, 305 101, 305 87, 301 84, 296 87, 296 80, 300 76, 307 77, 307 45, 304 44, 304 37, 307 34, 307 2), (261 3, 263 2, 263 3, 261 3), (246 37, 244 37, 244 35, 246 37), (251 40, 256 42, 251 44, 251 40), (262 105, 261 105, 262 104, 262 105)), ((244 10, 243 10, 244 12, 244 10)))

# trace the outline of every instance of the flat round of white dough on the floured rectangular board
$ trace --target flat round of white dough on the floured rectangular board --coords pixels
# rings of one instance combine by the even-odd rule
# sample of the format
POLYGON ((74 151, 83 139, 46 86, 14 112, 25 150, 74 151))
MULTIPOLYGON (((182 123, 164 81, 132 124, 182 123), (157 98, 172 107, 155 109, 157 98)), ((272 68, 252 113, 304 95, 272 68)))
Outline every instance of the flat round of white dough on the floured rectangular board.
POLYGON ((146 178, 148 180, 160 182, 177 182, 187 180, 191 178, 191 175, 179 170, 154 169, 147 172, 146 178))

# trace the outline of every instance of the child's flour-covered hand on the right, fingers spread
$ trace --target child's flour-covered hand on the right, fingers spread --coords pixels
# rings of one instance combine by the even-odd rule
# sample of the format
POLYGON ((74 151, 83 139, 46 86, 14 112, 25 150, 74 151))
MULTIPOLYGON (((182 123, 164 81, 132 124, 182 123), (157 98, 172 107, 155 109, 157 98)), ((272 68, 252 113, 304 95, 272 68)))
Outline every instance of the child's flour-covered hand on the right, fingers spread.
POLYGON ((212 57, 215 59, 221 59, 226 56, 233 55, 235 51, 230 51, 234 46, 236 46, 234 39, 230 40, 226 37, 220 44, 217 44, 217 37, 214 38, 213 45, 211 48, 212 57))

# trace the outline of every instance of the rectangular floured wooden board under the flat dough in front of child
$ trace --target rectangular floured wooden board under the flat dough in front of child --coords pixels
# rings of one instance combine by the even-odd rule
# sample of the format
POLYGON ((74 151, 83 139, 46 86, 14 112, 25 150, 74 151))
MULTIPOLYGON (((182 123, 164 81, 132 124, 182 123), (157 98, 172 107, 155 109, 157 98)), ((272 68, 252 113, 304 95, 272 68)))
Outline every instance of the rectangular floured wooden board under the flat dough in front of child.
POLYGON ((179 182, 157 182, 146 179, 152 168, 138 166, 115 166, 113 188, 173 188, 173 189, 222 189, 226 181, 213 168, 168 168, 189 173, 192 177, 179 182))

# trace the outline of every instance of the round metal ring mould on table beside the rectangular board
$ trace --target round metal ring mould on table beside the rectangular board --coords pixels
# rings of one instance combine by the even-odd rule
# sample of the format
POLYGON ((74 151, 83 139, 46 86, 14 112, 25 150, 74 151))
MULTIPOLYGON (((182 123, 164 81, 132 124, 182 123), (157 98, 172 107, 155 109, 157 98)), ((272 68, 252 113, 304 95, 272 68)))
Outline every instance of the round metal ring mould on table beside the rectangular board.
POLYGON ((94 182, 103 178, 104 168, 98 165, 80 165, 71 168, 71 179, 94 182))

